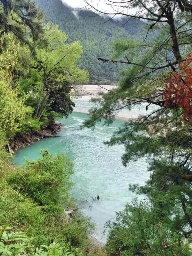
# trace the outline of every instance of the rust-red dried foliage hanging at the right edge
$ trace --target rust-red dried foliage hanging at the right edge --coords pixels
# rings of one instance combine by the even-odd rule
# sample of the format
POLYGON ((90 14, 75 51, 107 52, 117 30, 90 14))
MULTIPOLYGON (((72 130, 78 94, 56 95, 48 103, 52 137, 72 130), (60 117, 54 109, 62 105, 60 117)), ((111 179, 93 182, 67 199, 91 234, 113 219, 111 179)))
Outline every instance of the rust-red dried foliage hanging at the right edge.
POLYGON ((192 56, 187 53, 187 60, 180 64, 178 72, 168 77, 163 99, 164 105, 170 108, 182 108, 184 120, 189 119, 192 125, 192 56))

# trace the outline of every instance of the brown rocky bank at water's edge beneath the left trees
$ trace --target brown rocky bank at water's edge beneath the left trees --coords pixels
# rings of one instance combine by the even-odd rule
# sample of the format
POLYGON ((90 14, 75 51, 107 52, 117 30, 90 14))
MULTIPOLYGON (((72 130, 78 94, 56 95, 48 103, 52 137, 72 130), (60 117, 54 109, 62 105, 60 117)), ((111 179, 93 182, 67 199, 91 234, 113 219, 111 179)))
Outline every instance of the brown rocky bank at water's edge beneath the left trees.
POLYGON ((61 129, 63 125, 61 123, 53 123, 47 128, 41 129, 40 131, 30 131, 27 134, 18 135, 13 140, 10 141, 10 148, 12 153, 17 149, 20 149, 25 146, 29 146, 35 141, 41 140, 43 138, 54 137, 61 129))

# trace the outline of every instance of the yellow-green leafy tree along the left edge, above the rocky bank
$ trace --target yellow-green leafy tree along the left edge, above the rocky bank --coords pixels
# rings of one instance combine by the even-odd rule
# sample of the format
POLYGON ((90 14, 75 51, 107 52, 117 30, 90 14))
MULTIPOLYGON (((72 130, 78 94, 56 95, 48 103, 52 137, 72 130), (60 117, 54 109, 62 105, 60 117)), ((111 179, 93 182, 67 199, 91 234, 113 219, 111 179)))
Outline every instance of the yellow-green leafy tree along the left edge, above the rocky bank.
POLYGON ((30 126, 33 126, 30 123, 33 108, 24 104, 27 97, 20 95, 19 84, 14 76, 14 68, 19 62, 20 44, 15 42, 13 35, 8 34, 4 37, 7 49, 0 55, 0 127, 5 136, 11 139, 17 133, 28 131, 30 126))

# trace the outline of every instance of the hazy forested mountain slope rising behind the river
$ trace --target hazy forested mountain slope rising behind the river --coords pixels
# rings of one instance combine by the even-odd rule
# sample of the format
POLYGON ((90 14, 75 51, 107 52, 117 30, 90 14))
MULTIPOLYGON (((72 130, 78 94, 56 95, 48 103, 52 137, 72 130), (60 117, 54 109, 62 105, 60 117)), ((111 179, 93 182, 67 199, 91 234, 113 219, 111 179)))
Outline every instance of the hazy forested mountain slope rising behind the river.
MULTIPOLYGON (((102 63, 98 57, 110 58, 113 42, 118 38, 143 38, 144 23, 139 20, 118 19, 104 23, 103 17, 88 10, 74 10, 60 0, 39 0, 38 6, 47 20, 58 24, 68 34, 68 42, 80 41, 84 51, 78 65, 90 73, 93 80, 109 83, 119 80, 122 65, 102 63), (122 26, 125 24, 124 26, 122 26)), ((109 19, 109 18, 108 18, 109 19)), ((91 82, 91 78, 90 78, 91 82)))

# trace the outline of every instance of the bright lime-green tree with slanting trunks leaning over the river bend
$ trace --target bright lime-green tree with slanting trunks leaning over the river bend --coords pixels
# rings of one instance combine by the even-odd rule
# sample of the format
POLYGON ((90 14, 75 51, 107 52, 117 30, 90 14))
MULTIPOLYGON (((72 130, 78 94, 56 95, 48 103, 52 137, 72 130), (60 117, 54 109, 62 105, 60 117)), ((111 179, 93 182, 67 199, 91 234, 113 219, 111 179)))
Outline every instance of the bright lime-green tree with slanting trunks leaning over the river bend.
POLYGON ((41 86, 35 118, 41 118, 47 105, 67 116, 74 103, 70 100, 71 84, 84 82, 88 72, 76 68, 82 53, 78 42, 66 44, 67 36, 50 23, 44 27, 44 44, 36 48, 37 61, 33 67, 41 74, 41 86), (64 98, 62 99, 62 97, 64 98))

